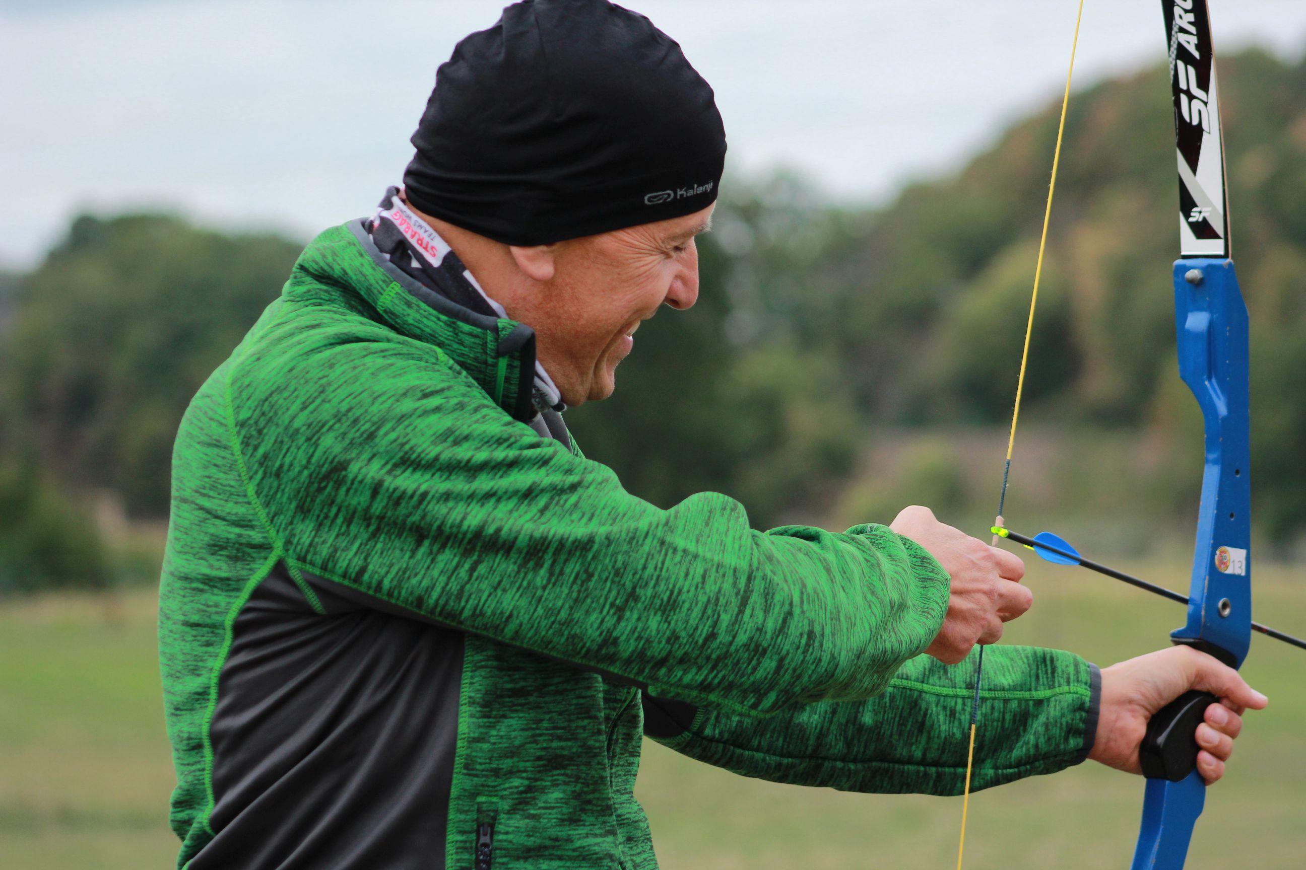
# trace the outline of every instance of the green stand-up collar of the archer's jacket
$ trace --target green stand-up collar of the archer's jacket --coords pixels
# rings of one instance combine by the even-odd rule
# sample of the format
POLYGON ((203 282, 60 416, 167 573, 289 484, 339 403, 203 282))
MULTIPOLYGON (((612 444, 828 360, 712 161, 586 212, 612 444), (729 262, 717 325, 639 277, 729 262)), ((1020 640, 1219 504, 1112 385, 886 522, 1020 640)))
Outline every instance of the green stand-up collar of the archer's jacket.
POLYGON ((534 416, 534 330, 431 292, 377 250, 362 218, 313 239, 295 271, 359 293, 394 331, 439 347, 515 419, 534 416))

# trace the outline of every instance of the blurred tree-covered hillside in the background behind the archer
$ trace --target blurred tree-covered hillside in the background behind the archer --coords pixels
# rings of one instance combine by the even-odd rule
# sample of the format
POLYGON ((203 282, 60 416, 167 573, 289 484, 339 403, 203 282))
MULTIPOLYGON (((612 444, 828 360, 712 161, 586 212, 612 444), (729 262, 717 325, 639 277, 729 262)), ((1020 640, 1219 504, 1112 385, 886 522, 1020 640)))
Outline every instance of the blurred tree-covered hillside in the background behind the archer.
MULTIPOLYGON (((1289 544, 1306 532, 1306 64, 1251 51, 1220 73, 1252 317, 1254 517, 1289 544)), ((786 176, 727 179, 699 305, 646 323, 616 395, 568 412, 586 454, 661 505, 727 492, 756 526, 888 522, 912 502, 991 517, 1057 108, 878 211, 786 176)), ((1200 472, 1173 360, 1165 70, 1076 94, 1066 136, 1013 498, 1147 537, 1191 520, 1200 472)), ((0 523, 0 592, 149 574, 104 539, 90 497, 166 518, 182 412, 300 247, 86 215, 34 271, 0 273, 0 515, 21 518, 0 523)))

